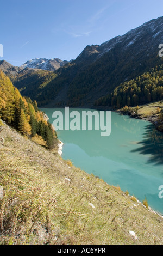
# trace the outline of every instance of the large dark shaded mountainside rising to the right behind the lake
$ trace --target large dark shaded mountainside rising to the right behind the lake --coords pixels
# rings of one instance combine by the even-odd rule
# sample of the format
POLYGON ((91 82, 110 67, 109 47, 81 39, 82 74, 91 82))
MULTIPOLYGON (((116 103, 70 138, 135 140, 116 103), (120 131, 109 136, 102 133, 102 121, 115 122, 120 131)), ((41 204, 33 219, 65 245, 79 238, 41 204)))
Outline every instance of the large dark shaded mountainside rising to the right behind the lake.
POLYGON ((38 82, 37 76, 30 73, 27 83, 27 74, 18 74, 12 81, 21 89, 22 95, 37 100, 39 106, 49 103, 51 107, 91 107, 99 98, 114 92, 121 83, 136 80, 136 77, 161 65, 162 59, 158 55, 161 42, 163 17, 100 46, 87 46, 76 60, 58 69, 51 80, 49 74, 45 74, 47 83, 43 87, 42 81, 38 82))

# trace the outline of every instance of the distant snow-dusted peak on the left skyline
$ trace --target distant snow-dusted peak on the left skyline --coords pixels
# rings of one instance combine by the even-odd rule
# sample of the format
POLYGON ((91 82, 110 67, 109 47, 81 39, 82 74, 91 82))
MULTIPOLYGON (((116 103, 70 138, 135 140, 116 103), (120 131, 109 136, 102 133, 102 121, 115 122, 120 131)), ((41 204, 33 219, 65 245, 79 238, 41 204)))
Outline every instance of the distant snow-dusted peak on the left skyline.
POLYGON ((58 58, 54 59, 45 59, 45 58, 36 58, 30 59, 23 65, 21 68, 32 68, 32 69, 43 69, 49 71, 56 71, 60 67, 64 66, 67 63, 66 60, 61 60, 58 58))

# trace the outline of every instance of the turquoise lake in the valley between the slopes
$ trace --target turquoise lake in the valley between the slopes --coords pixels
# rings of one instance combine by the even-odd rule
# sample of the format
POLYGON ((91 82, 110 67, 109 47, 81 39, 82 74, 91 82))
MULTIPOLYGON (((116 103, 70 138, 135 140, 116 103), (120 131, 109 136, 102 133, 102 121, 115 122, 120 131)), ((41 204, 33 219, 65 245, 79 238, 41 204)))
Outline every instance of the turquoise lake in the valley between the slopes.
MULTIPOLYGON (((54 111, 41 109, 53 123, 54 111)), ((71 111, 90 109, 70 109, 71 111)), ((110 185, 120 186, 139 200, 148 200, 152 209, 163 214, 163 134, 148 121, 133 119, 111 112, 111 135, 101 137, 101 131, 57 131, 64 143, 62 158, 74 166, 99 176, 110 185)))

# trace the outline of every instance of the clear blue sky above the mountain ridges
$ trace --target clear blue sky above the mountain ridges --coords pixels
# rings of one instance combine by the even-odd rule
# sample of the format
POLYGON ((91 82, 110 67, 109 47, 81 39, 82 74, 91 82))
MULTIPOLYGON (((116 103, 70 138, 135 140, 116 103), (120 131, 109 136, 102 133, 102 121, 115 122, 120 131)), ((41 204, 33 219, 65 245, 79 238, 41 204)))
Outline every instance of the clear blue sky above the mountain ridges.
POLYGON ((76 59, 87 45, 123 35, 162 10, 162 0, 1 1, 0 60, 20 66, 33 58, 76 59))

